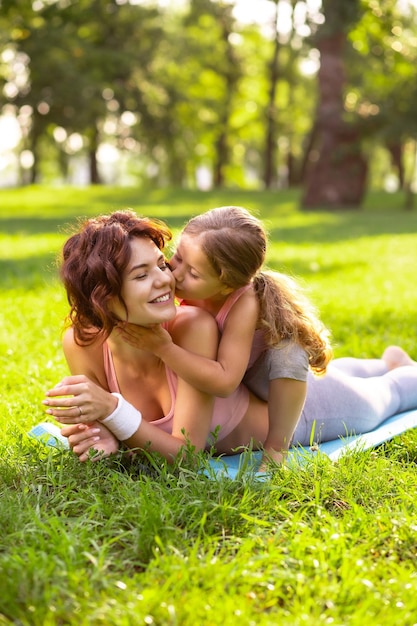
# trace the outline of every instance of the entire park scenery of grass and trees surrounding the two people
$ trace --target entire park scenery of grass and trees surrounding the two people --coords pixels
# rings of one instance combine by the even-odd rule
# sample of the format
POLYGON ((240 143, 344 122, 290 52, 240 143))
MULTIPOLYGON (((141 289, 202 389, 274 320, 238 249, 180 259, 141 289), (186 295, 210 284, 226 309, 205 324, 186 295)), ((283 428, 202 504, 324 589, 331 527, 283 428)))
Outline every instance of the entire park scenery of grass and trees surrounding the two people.
POLYGON ((1 626, 416 626, 417 429, 266 481, 81 465, 27 436, 68 374, 62 244, 115 208, 176 236, 242 204, 336 356, 417 359, 416 17, 417 0, 0 0, 1 626))

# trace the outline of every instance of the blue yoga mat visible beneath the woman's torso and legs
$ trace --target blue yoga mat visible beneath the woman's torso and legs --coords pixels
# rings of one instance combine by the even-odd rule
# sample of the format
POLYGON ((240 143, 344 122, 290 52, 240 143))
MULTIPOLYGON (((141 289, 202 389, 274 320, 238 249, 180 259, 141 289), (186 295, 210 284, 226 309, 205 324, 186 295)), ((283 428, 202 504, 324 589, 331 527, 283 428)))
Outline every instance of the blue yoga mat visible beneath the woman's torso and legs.
MULTIPOLYGON (((313 456, 325 454, 332 461, 337 461, 343 454, 351 450, 368 450, 375 448, 384 441, 389 441, 397 435, 401 435, 407 430, 417 427, 417 409, 405 411, 389 417, 375 430, 361 435, 350 435, 340 437, 333 441, 326 441, 314 447, 297 446, 289 451, 288 463, 303 463, 313 456)), ((257 467, 261 461, 261 452, 242 452, 241 454, 224 455, 219 458, 210 459, 210 466, 215 474, 236 478, 242 471, 252 471, 257 478, 264 480, 267 475, 257 472, 257 467)))

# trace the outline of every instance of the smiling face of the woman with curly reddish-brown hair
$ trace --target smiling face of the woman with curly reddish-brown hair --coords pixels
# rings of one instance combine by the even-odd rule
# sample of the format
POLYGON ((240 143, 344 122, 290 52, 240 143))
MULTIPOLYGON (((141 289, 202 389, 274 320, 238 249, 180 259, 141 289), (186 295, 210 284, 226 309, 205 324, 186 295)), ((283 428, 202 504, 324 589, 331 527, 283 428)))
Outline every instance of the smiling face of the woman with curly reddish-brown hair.
MULTIPOLYGON (((136 237, 131 241, 132 256, 123 275, 122 298, 129 322, 148 326, 167 322, 175 317, 175 281, 165 257, 153 241, 136 237)), ((126 312, 115 301, 113 312, 123 321, 126 312)))

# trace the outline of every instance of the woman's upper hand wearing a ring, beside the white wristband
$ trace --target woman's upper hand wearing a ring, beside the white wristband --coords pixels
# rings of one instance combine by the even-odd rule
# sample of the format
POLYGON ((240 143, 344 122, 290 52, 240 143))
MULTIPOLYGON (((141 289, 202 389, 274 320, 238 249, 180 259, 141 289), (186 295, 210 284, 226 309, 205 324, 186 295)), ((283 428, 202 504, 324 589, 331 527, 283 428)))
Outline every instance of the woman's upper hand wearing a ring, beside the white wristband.
POLYGON ((118 400, 83 375, 67 376, 46 392, 46 413, 62 424, 90 424, 113 413, 118 400))

